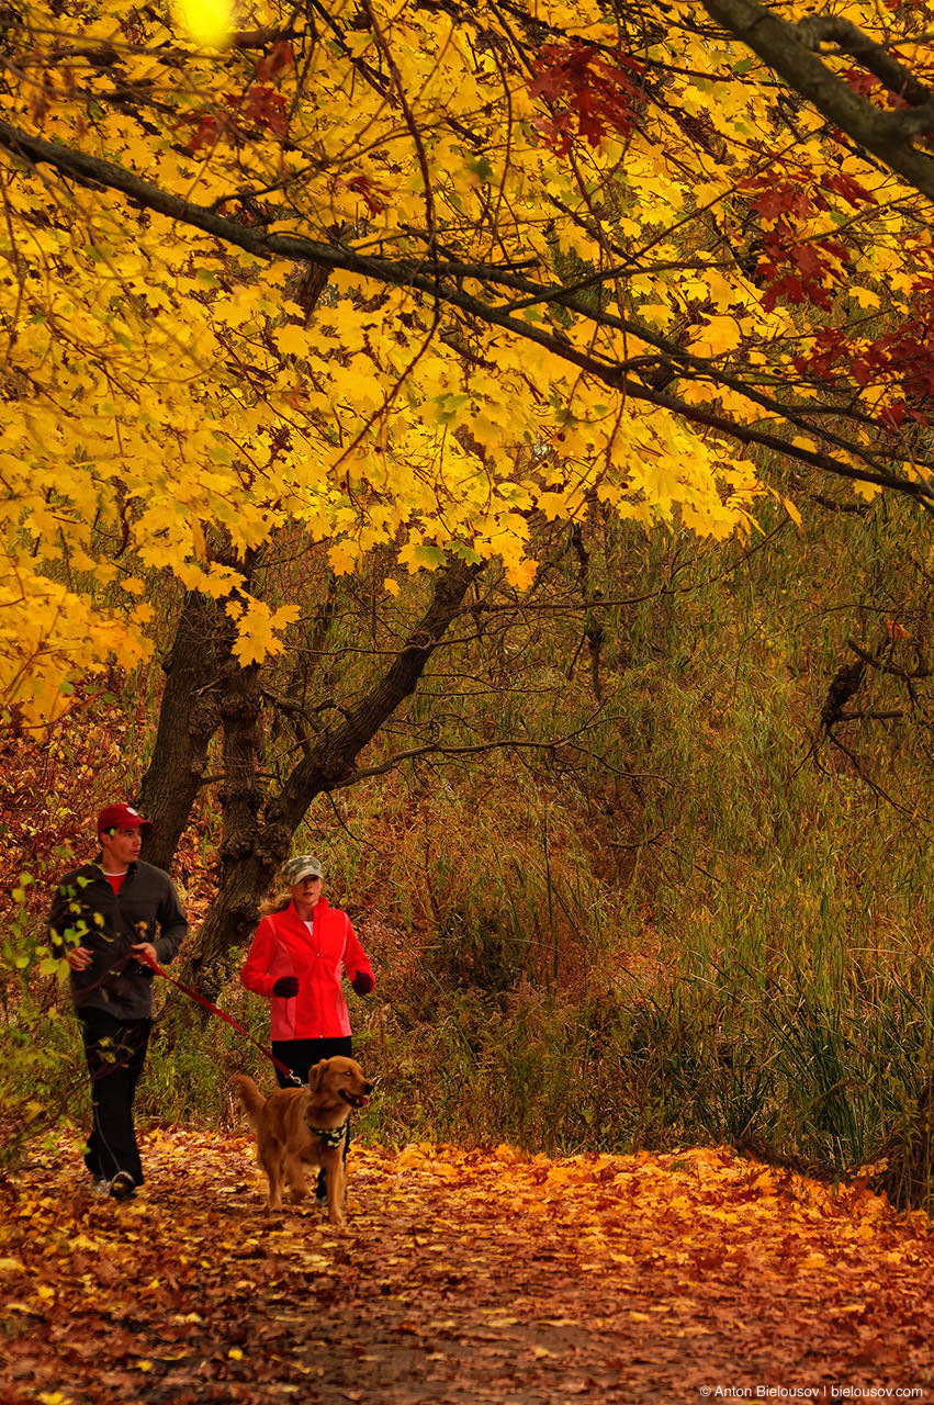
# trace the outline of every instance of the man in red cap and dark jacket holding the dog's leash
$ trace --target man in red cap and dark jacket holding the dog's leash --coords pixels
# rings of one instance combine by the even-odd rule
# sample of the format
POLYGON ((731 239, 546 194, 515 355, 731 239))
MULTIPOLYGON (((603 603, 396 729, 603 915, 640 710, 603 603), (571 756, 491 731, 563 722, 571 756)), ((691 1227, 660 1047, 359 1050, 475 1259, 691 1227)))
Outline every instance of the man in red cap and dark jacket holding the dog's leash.
POLYGON ((49 912, 49 936, 70 967, 91 1078, 84 1163, 96 1191, 117 1200, 143 1182, 133 1094, 152 1030, 146 962, 171 961, 188 930, 169 874, 139 858, 147 825, 131 805, 107 805, 97 816, 97 858, 65 874, 49 912))

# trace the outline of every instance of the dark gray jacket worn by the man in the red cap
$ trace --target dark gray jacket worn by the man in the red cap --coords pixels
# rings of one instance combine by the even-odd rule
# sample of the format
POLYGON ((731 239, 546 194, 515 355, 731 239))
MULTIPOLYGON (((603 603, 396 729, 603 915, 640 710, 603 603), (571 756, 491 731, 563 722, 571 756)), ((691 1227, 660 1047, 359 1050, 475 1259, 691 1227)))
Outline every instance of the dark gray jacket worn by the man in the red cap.
POLYGON ((76 1007, 107 1010, 121 1020, 153 1013, 154 974, 136 961, 131 947, 152 941, 159 965, 167 965, 187 932, 171 878, 142 860, 129 865, 119 894, 100 864, 73 868, 59 882, 49 912, 52 946, 60 951, 87 947, 93 957, 86 971, 72 971, 76 1007))

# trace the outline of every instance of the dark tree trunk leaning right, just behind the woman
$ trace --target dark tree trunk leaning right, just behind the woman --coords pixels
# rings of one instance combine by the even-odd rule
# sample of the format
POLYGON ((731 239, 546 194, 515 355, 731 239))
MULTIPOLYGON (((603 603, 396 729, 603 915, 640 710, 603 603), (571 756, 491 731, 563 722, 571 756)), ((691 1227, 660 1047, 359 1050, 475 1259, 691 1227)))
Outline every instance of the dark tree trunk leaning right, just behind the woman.
MULTIPOLYGON (((258 901, 268 891, 275 870, 288 857, 292 835, 312 801, 322 791, 336 790, 353 777, 360 752, 400 702, 416 690, 428 659, 456 618, 463 596, 478 572, 478 566, 455 561, 438 575, 428 608, 382 679, 343 722, 315 738, 279 795, 271 797, 258 815, 251 809, 256 792, 249 797, 230 794, 229 802, 240 806, 239 818, 228 823, 225 816, 218 896, 205 915, 191 958, 191 971, 202 984, 205 979, 212 979, 212 967, 222 965, 225 957, 251 936, 258 916, 258 901)), ((225 701, 225 710, 226 707, 225 701)), ((246 767, 251 745, 246 712, 240 717, 240 724, 242 754, 237 754, 237 766, 246 767)), ((253 746, 254 764, 256 732, 253 746)), ((225 781, 225 787, 226 784, 225 781)), ((242 784, 247 785, 244 773, 242 784)))

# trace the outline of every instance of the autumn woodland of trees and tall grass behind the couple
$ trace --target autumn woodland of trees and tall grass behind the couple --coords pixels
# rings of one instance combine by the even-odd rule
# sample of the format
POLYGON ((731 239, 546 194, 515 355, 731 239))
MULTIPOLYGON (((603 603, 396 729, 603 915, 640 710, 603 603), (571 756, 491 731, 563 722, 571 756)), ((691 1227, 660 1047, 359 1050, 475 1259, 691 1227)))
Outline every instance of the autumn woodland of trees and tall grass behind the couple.
MULTIPOLYGON (((934 15, 657 8, 4 11, 13 1152, 80 1118, 42 917, 118 797, 258 1038, 322 856, 389 1145, 914 1127, 934 15)), ((244 1068, 160 992, 145 1116, 244 1068)))

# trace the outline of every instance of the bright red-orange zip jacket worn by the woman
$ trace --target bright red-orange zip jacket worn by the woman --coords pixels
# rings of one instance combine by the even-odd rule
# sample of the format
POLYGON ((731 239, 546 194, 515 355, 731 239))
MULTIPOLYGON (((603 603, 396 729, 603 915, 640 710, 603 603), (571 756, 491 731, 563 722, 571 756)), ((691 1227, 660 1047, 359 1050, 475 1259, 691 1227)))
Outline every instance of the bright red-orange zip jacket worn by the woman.
POLYGON ((274 1040, 337 1038, 350 1034, 344 971, 351 979, 361 971, 371 979, 374 974, 347 913, 319 898, 310 932, 292 903, 263 917, 240 981, 268 999, 274 1040), (298 995, 272 995, 282 975, 298 978, 298 995))

